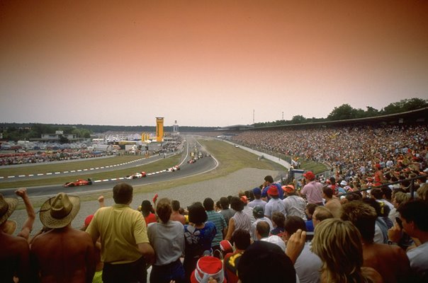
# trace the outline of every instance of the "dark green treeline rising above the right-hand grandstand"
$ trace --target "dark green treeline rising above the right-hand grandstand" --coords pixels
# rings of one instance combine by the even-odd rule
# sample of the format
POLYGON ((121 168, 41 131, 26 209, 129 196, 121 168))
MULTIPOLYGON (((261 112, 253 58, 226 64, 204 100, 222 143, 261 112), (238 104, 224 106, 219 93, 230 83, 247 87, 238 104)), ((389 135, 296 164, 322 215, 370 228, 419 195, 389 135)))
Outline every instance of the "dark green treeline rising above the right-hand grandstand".
POLYGON ((400 112, 407 112, 411 110, 417 110, 420 108, 428 107, 428 100, 421 98, 410 98, 400 100, 399 102, 390 103, 385 108, 377 110, 371 106, 367 106, 366 110, 361 108, 352 108, 349 104, 343 104, 335 107, 327 118, 306 118, 302 115, 295 115, 291 120, 276 120, 274 122, 260 122, 255 123, 254 127, 266 127, 266 126, 277 126, 277 125, 293 125, 302 123, 312 122, 326 122, 326 121, 339 121, 349 119, 359 119, 367 117, 377 117, 381 115, 397 114, 400 112))

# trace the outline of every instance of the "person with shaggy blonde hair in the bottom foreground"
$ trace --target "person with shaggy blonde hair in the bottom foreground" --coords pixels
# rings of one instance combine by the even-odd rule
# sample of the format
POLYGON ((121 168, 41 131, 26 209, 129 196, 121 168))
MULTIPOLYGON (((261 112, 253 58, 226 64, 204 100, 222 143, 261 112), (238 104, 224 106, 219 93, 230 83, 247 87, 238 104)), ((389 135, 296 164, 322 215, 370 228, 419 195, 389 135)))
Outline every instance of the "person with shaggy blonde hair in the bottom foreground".
POLYGON ((322 261, 321 282, 383 282, 379 273, 363 265, 361 235, 350 221, 325 219, 315 228, 312 252, 322 261))

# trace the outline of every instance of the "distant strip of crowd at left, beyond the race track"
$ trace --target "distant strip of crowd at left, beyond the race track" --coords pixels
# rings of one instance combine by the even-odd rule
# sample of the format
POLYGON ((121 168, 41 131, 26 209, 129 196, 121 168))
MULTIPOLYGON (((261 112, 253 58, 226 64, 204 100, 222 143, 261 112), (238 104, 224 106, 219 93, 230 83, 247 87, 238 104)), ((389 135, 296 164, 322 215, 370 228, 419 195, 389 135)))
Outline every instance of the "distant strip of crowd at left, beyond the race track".
POLYGON ((106 156, 106 153, 87 150, 62 150, 51 152, 26 152, 21 154, 0 154, 0 166, 27 163, 46 163, 106 156))

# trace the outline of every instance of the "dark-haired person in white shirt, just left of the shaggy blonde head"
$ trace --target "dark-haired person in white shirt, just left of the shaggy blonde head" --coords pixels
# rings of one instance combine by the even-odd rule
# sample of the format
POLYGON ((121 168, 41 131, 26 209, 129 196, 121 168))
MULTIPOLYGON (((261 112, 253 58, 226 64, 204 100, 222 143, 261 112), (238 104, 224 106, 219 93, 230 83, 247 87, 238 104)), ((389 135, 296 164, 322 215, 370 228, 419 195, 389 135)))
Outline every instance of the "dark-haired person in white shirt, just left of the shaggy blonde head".
MULTIPOLYGON (((298 229, 306 231, 305 221, 299 216, 288 216, 285 223, 285 229, 286 232, 284 238, 288 241, 288 239, 291 238, 298 229)), ((295 260, 294 268, 300 283, 320 282, 322 262, 315 253, 312 253, 310 246, 310 242, 306 241, 302 252, 297 260, 295 260)))

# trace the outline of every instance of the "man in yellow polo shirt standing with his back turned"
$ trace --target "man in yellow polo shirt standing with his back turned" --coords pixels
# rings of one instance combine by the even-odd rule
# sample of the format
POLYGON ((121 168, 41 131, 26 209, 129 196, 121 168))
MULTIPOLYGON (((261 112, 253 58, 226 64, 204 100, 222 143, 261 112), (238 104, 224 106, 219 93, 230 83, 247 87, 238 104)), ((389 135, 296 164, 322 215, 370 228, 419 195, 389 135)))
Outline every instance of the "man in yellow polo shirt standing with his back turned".
POLYGON ((101 207, 86 232, 94 243, 101 237, 103 282, 147 282, 146 264, 154 259, 144 217, 130 208, 133 187, 119 183, 113 187, 112 207, 101 207))

